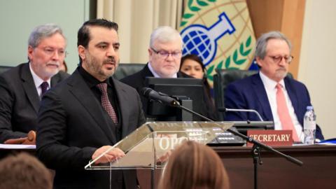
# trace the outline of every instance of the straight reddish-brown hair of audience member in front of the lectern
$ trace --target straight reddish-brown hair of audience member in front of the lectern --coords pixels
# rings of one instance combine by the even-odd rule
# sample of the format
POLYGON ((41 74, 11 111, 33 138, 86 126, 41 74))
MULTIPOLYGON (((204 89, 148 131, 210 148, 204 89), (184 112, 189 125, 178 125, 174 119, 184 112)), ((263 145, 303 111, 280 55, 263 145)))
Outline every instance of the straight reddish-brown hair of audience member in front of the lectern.
POLYGON ((228 174, 217 153, 203 144, 186 141, 170 155, 160 189, 227 189, 228 174))

